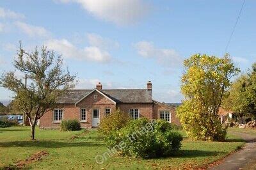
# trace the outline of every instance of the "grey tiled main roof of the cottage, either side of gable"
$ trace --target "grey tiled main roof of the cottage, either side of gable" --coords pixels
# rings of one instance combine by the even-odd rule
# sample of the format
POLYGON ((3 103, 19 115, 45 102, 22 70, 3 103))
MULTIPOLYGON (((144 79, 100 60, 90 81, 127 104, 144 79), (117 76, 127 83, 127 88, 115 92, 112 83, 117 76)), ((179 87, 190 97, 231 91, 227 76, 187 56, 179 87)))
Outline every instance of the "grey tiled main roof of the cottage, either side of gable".
MULTIPOLYGON (((69 89, 58 98, 58 104, 75 104, 93 89, 69 89)), ((148 89, 102 89, 116 103, 152 103, 152 91, 148 89)))

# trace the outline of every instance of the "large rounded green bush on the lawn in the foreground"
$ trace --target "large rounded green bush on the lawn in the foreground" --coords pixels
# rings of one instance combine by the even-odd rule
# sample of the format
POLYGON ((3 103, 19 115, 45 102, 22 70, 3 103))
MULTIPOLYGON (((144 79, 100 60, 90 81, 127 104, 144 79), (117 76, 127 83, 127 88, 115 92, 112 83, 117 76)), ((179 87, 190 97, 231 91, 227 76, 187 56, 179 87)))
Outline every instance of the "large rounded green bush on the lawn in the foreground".
POLYGON ((109 149, 121 155, 154 158, 171 155, 179 150, 182 135, 164 120, 149 121, 145 118, 132 120, 120 130, 106 136, 109 149))

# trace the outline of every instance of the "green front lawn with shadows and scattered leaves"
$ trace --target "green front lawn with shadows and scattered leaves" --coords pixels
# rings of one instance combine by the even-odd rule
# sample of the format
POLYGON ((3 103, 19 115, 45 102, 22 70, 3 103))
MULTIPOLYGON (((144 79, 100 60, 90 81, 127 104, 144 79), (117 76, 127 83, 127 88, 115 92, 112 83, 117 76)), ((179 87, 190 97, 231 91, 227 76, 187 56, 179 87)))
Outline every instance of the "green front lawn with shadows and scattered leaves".
POLYGON ((27 168, 42 169, 137 169, 161 167, 205 167, 231 151, 243 146, 243 141, 228 133, 228 142, 189 141, 184 132, 182 148, 172 157, 155 159, 134 159, 115 155, 103 164, 95 162, 96 155, 102 155, 107 148, 97 130, 60 132, 60 130, 39 130, 36 141, 29 140, 29 127, 0 128, 0 169, 15 164, 38 151, 48 151, 42 160, 28 164, 27 168), (76 136, 76 137, 74 137, 76 136))

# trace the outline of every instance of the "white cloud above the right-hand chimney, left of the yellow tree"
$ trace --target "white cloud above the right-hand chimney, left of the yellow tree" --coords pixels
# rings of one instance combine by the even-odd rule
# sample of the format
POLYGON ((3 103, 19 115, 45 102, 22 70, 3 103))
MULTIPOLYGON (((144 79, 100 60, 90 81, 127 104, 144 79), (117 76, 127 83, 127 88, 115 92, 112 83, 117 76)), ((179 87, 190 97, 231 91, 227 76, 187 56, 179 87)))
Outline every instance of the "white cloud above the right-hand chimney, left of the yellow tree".
POLYGON ((173 49, 157 49, 152 42, 138 42, 134 47, 140 56, 156 59, 163 66, 180 66, 183 61, 177 51, 173 49))

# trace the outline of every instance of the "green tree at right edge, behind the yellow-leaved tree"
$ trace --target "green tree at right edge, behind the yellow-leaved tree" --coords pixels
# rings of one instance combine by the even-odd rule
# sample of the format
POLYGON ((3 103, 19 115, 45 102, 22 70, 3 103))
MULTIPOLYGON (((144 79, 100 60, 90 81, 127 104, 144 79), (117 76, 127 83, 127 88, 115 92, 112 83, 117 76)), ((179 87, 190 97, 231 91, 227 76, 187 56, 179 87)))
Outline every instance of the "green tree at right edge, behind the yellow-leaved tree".
POLYGON ((234 111, 238 117, 256 116, 256 63, 252 69, 232 83, 230 95, 223 102, 225 109, 234 111))

